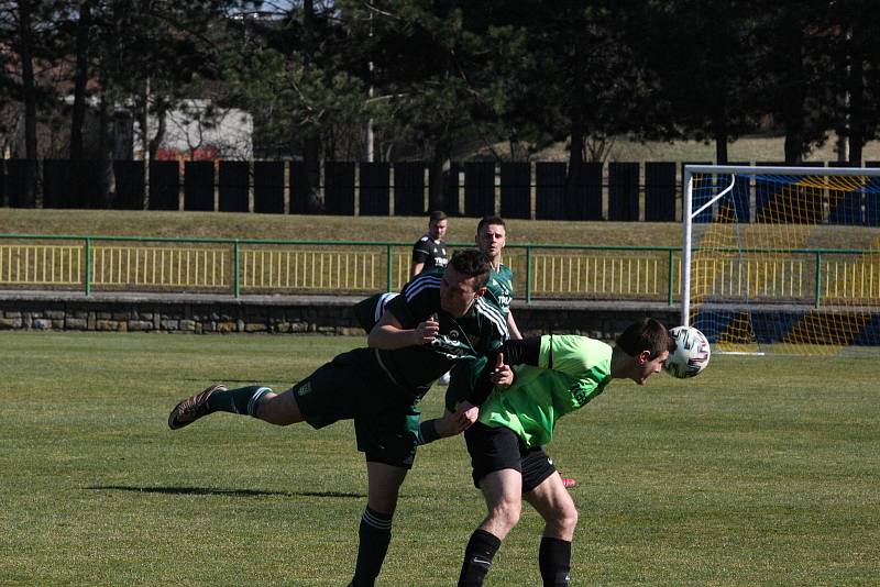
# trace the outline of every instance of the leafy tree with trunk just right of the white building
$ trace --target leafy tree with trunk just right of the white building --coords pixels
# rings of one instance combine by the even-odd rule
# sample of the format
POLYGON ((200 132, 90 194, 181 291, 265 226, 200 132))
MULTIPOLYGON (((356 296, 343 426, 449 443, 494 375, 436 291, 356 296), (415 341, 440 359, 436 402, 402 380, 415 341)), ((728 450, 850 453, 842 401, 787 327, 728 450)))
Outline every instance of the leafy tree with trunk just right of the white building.
POLYGON ((228 23, 223 103, 253 112, 263 142, 301 156, 305 211, 319 212, 320 160, 334 154, 341 129, 365 120, 366 89, 352 74, 364 63, 362 47, 332 2, 261 8, 228 23))

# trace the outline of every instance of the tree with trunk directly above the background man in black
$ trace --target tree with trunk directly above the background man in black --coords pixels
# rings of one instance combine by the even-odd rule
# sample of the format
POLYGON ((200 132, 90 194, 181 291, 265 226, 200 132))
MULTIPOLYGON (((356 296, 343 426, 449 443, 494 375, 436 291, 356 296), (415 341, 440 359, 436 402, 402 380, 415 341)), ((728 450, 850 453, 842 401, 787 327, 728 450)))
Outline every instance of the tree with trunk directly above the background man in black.
MULTIPOLYGON (((373 89, 370 113, 378 133, 428 159, 431 206, 448 208, 453 148, 495 129, 497 117, 484 91, 495 75, 486 34, 501 8, 454 0, 340 5, 372 65, 362 63, 359 71, 373 89)), ((399 156, 391 148, 388 154, 399 156)))

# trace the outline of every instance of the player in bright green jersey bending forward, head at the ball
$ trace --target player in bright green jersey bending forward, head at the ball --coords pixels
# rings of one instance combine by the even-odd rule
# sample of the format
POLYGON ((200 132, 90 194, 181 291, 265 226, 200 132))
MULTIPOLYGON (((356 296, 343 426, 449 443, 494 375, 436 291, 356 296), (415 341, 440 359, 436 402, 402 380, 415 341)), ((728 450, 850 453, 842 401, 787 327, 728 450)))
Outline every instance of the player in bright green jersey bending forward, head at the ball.
POLYGON ((522 499, 544 519, 538 551, 543 585, 569 585, 578 510, 542 446, 552 440, 560 418, 584 407, 613 379, 642 385, 672 351, 669 332, 653 319, 631 324, 614 347, 586 336, 552 334, 505 343, 507 364, 521 365, 514 368, 514 384, 497 386, 477 422, 464 432, 474 484, 488 512, 468 543, 460 587, 483 584, 502 541, 519 520, 522 499))

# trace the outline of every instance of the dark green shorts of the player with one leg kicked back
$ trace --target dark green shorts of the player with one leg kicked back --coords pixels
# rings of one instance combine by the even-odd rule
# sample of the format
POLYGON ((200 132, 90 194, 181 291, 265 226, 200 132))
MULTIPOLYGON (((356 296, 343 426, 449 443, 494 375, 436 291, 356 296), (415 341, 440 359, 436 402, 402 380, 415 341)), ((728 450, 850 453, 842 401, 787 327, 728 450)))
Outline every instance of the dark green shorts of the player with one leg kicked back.
POLYGON ((371 462, 410 468, 416 458, 419 411, 373 363, 372 350, 333 357, 293 387, 312 428, 354 420, 358 450, 371 462))

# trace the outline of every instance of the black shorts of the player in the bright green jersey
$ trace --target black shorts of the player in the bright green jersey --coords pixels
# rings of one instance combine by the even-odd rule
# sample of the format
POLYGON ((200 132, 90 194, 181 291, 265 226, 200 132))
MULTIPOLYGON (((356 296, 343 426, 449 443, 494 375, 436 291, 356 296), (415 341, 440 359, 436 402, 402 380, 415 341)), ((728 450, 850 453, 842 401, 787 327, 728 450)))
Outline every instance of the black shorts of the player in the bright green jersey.
POLYGON ((527 448, 517 434, 505 427, 487 427, 482 422, 464 431, 471 453, 474 485, 495 470, 512 468, 522 475, 522 492, 531 491, 557 468, 540 446, 527 448))

